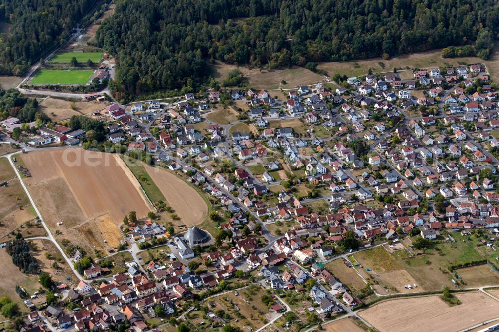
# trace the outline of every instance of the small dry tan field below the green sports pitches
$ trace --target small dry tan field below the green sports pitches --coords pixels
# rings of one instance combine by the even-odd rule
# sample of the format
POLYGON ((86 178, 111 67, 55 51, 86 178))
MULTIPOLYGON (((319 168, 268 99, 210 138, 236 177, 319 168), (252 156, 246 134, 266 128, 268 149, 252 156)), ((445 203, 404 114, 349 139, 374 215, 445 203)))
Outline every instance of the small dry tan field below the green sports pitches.
POLYGON ((38 106, 52 121, 64 121, 73 115, 86 115, 101 110, 109 105, 108 102, 97 101, 66 101, 51 97, 45 98, 38 106))

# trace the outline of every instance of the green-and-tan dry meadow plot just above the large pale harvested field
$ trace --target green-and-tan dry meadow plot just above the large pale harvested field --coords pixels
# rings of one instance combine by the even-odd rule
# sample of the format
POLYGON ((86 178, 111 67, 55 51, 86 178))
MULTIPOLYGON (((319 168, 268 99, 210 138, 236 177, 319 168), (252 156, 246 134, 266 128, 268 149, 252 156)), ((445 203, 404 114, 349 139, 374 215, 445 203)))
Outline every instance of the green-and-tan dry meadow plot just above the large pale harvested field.
MULTIPOLYGON (((387 287, 397 292, 417 292, 421 288, 406 289, 405 285, 417 284, 414 278, 400 266, 399 263, 382 246, 365 250, 354 255, 355 259, 362 264, 356 267, 366 280, 376 280, 379 285, 373 285, 376 292, 386 293, 382 288, 387 287)), ((419 285, 418 285, 419 286, 419 285)))

